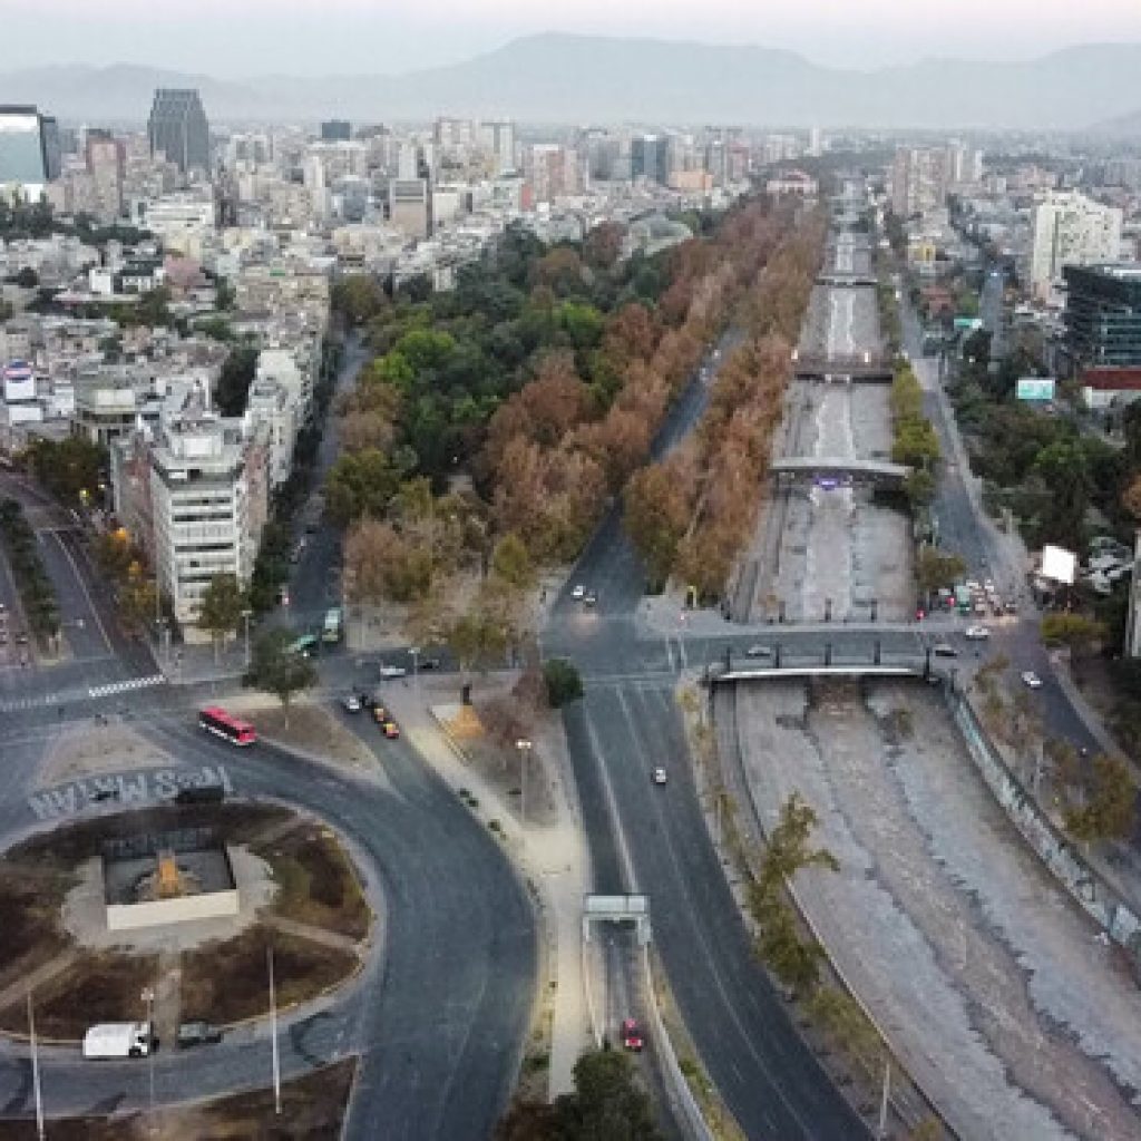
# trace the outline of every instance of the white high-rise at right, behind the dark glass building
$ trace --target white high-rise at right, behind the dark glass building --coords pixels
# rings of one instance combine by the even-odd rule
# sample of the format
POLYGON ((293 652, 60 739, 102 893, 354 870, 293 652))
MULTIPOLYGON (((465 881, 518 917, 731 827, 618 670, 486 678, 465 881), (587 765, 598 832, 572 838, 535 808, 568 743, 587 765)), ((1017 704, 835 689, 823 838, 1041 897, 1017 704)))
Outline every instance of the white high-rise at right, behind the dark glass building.
POLYGON ((1067 266, 1116 261, 1122 248, 1122 211, 1078 191, 1051 191, 1034 208, 1030 291, 1044 297, 1067 266))

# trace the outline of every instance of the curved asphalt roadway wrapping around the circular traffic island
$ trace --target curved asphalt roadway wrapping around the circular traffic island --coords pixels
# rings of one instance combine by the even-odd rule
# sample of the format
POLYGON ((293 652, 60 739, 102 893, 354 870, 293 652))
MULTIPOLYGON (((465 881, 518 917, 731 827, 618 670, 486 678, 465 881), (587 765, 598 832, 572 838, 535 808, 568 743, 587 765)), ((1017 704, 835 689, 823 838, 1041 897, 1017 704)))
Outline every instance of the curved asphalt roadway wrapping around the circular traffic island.
MULTIPOLYGON (((371 892, 383 897, 380 962, 329 1008, 283 1020, 283 1073, 361 1054, 346 1138, 486 1139, 515 1079, 536 971, 526 892, 494 840, 403 743, 362 734, 380 756, 385 787, 265 744, 235 750, 201 734, 189 710, 137 709, 133 717, 145 736, 183 762, 225 766, 237 795, 325 817, 356 851, 371 892)), ((33 714, 24 721, 25 733, 34 728, 33 714)), ((42 734, 39 745, 33 734, 13 748, 25 778, 41 747, 42 734)), ((82 798, 78 803, 92 810, 82 798)), ((5 836, 35 819, 24 799, 0 803, 5 836)), ((92 1066, 75 1050, 47 1050, 41 1062, 50 1112, 146 1104, 145 1063, 92 1066)), ((178 1101, 264 1086, 269 1067, 265 1028, 240 1029, 193 1055, 160 1052, 156 1097, 178 1101)), ((31 1108, 29 1062, 6 1050, 0 1111, 31 1108)))

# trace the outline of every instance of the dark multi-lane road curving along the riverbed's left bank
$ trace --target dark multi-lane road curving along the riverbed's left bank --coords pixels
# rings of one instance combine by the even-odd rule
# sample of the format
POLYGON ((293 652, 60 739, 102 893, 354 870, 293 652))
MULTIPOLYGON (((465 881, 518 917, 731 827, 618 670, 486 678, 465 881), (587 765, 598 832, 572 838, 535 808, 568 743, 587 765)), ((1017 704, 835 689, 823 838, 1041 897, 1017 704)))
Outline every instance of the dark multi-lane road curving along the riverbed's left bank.
MULTIPOLYGON (((698 382, 683 394, 655 454, 693 427, 706 393, 698 382)), ((542 640, 544 654, 566 654, 586 674, 586 697, 567 710, 565 726, 596 890, 648 893, 687 1029, 748 1138, 865 1136, 753 958, 693 784, 672 701, 674 659, 664 640, 637 636, 644 572, 620 509, 607 513, 572 582, 596 590, 598 606, 574 602, 568 585, 542 640), (670 771, 664 788, 650 783, 656 764, 670 771)))

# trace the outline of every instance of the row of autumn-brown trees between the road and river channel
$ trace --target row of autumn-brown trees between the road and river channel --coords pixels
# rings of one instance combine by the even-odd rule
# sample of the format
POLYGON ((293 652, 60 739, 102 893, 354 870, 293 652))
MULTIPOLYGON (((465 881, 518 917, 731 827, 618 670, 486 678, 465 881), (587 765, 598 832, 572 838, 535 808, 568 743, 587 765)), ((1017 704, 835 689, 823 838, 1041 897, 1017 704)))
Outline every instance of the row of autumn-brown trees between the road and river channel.
MULTIPOLYGON (((751 332, 721 367, 694 437, 630 482, 625 526, 652 585, 679 574, 703 599, 719 597, 753 529, 791 372, 791 346, 823 253, 823 213, 768 216, 746 262, 755 284, 738 317, 751 332), (774 251, 775 248, 775 251, 774 251), (774 251, 759 265, 756 251, 774 251), (759 280, 758 280, 759 278, 759 280)), ((739 267, 744 270, 746 267, 739 267)))

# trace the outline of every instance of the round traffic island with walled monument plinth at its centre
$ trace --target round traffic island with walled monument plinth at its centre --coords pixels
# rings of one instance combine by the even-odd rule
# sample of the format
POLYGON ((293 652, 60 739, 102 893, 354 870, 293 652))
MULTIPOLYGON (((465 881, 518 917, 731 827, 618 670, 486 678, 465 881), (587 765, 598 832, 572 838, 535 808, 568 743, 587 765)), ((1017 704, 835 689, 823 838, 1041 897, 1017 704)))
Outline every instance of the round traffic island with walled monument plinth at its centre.
POLYGON ((321 822, 276 807, 165 806, 40 833, 0 859, 0 1031, 76 1041, 97 1022, 268 1012, 267 954, 290 1006, 351 978, 373 915, 321 822))

